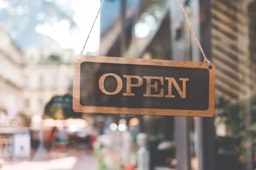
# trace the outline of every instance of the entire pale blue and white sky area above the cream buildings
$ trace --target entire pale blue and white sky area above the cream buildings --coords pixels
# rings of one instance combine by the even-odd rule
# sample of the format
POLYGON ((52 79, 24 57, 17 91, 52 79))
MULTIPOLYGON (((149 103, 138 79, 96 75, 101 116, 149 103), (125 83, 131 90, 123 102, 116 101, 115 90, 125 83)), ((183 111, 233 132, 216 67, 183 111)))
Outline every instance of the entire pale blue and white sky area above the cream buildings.
MULTIPOLYGON (((37 48, 48 48, 45 40, 49 37, 58 42, 61 48, 72 48, 75 53, 79 53, 99 6, 100 0, 0 0, 0 26, 8 31, 22 51, 26 51, 30 45, 37 48), (70 21, 66 17, 61 20, 54 17, 56 9, 49 7, 47 1, 57 2, 61 11, 72 12, 73 15, 70 16, 73 16, 72 20, 76 23, 76 27, 70 29, 70 21), (52 11, 52 9, 54 10, 52 11), (40 36, 41 34, 44 36, 40 36)), ((100 15, 96 20, 85 51, 90 53, 98 51, 99 40, 100 15)))

